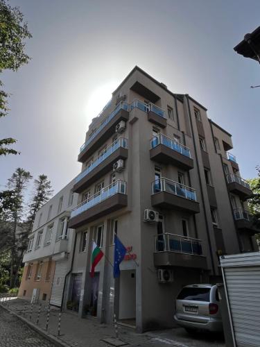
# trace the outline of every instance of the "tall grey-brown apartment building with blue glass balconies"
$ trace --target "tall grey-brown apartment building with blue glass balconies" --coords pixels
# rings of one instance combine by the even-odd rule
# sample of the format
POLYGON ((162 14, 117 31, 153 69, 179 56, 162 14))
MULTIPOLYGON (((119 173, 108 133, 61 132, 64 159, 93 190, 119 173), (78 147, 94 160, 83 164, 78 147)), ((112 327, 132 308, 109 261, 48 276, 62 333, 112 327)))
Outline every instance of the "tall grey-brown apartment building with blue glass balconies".
POLYGON ((252 192, 228 152, 231 137, 188 94, 132 69, 80 148, 64 304, 107 323, 115 313, 139 332, 172 326, 183 285, 219 282, 219 255, 254 251, 252 192), (130 250, 116 280, 115 233, 130 250), (94 279, 92 239, 105 253, 94 279))

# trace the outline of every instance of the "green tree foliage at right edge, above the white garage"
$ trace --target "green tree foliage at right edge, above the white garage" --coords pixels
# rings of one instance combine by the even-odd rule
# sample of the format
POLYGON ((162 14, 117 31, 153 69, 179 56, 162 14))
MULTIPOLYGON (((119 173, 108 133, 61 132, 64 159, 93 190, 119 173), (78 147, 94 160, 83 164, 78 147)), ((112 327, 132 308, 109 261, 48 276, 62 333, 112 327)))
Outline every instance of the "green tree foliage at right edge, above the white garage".
POLYGON ((254 225, 260 229, 260 166, 257 166, 257 178, 248 180, 253 196, 248 200, 248 208, 253 216, 254 225))

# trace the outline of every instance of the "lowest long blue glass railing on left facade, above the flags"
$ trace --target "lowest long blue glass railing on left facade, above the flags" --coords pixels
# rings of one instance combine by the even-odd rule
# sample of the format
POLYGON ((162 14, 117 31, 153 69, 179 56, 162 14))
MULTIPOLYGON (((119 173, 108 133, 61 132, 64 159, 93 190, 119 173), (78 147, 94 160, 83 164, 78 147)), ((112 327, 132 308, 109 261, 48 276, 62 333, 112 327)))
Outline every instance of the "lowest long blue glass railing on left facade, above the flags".
POLYGON ((107 185, 107 187, 101 189, 100 192, 97 192, 96 194, 87 198, 87 200, 80 203, 72 210, 71 218, 89 210, 89 208, 98 205, 98 203, 101 203, 117 193, 126 194, 126 183, 123 180, 116 180, 116 182, 112 183, 111 185, 107 185))

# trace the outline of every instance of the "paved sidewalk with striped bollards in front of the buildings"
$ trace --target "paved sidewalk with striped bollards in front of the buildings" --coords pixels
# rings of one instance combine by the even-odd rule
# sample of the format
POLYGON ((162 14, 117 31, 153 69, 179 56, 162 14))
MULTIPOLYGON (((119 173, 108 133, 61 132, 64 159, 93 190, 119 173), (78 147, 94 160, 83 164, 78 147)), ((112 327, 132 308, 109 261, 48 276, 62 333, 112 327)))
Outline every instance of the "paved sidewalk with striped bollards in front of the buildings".
MULTIPOLYGON (((0 299, 0 301, 3 299, 0 299)), ((18 298, 11 298, 10 301, 2 301, 0 304, 6 307, 10 312, 19 314, 19 316, 30 321, 31 303, 18 298)), ((31 323, 36 325, 37 314, 40 305, 33 305, 33 314, 31 323)), ((39 328, 47 335, 55 337, 60 341, 63 346, 73 347, 111 347, 110 344, 102 341, 103 339, 113 338, 115 340, 114 327, 111 325, 100 324, 94 318, 80 319, 77 314, 73 312, 62 312, 61 316, 61 335, 58 336, 58 314, 60 310, 51 307, 49 329, 46 332, 46 315, 47 305, 42 305, 40 311, 39 328)), ((144 334, 137 334, 134 330, 118 326, 119 341, 124 342, 128 346, 142 347, 167 347, 171 345, 174 347, 223 347, 223 341, 215 341, 214 339, 205 338, 201 336, 198 338, 191 338, 187 332, 182 328, 173 328, 168 330, 147 332, 144 334)), ((120 346, 120 345, 119 345, 120 346)), ((123 346, 123 345, 122 345, 123 346)))

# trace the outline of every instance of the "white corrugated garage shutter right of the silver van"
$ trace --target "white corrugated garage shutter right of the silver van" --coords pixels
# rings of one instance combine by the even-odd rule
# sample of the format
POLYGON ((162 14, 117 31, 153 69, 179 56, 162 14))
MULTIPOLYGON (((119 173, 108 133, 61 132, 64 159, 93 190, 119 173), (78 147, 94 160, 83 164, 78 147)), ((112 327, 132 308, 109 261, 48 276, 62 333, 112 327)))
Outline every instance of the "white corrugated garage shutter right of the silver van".
POLYGON ((260 266, 224 269, 237 347, 260 346, 260 266))

